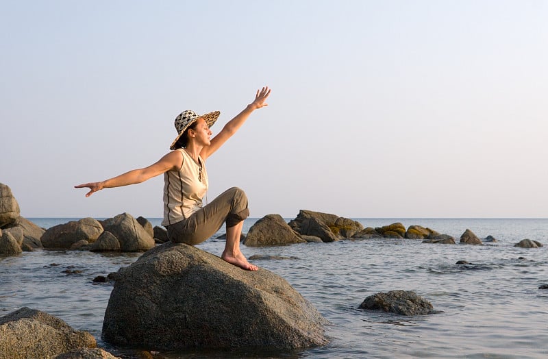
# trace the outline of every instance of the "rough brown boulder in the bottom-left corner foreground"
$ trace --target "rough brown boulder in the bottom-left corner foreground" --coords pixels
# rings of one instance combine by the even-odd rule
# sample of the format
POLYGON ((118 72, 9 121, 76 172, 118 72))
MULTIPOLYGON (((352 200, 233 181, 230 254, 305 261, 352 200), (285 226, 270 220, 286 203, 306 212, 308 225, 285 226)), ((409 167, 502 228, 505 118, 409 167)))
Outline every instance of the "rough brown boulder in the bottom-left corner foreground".
POLYGON ((0 317, 0 358, 54 358, 72 349, 95 347, 88 332, 39 310, 23 307, 0 317))

